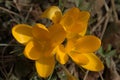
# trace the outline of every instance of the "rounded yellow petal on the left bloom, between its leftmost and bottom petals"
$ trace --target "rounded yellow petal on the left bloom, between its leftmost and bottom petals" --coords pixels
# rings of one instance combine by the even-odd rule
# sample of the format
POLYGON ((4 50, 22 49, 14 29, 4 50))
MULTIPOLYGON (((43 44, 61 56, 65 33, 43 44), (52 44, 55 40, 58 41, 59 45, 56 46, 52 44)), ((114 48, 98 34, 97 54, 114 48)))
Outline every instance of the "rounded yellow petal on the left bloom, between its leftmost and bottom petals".
POLYGON ((40 58, 41 48, 39 43, 30 41, 24 50, 24 55, 31 60, 38 60, 40 58))

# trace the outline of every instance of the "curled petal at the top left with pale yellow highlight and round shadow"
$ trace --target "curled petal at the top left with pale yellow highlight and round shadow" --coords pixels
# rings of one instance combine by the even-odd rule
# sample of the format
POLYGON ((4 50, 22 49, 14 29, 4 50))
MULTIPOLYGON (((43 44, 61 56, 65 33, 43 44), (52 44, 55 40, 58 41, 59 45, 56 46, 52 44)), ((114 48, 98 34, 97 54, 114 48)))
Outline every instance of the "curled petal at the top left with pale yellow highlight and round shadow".
POLYGON ((54 23, 59 23, 62 12, 57 6, 51 6, 43 12, 41 17, 51 19, 54 23))

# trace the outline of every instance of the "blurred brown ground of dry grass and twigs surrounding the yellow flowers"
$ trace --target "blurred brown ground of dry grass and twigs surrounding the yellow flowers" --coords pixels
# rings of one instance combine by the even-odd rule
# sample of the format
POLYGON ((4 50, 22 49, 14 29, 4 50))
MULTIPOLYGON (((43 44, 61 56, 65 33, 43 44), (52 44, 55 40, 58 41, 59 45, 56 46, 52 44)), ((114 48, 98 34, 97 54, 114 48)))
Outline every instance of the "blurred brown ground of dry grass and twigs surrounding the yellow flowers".
POLYGON ((49 24, 51 21, 40 15, 52 5, 58 6, 63 13, 71 7, 89 11, 87 34, 102 40, 96 54, 105 69, 90 72, 69 62, 65 66, 70 73, 79 80, 120 80, 120 0, 0 0, 0 80, 66 80, 59 64, 49 78, 40 78, 34 62, 22 54, 24 46, 11 34, 12 27, 19 23, 49 24))

